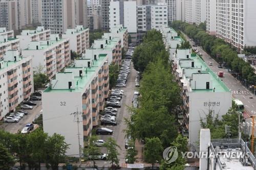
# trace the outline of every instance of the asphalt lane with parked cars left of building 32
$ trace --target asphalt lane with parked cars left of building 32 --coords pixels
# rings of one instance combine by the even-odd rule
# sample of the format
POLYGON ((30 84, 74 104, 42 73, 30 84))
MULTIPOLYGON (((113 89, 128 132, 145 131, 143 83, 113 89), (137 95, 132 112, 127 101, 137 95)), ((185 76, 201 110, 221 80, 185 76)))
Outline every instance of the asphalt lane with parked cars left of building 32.
POLYGON ((4 123, 1 126, 1 128, 3 128, 7 132, 14 134, 14 133, 17 133, 19 130, 21 131, 25 127, 26 124, 32 123, 35 115, 39 114, 40 110, 42 109, 41 101, 33 101, 33 102, 37 103, 37 105, 33 106, 32 110, 26 110, 26 111, 28 111, 28 115, 25 115, 24 118, 19 120, 18 123, 4 123))

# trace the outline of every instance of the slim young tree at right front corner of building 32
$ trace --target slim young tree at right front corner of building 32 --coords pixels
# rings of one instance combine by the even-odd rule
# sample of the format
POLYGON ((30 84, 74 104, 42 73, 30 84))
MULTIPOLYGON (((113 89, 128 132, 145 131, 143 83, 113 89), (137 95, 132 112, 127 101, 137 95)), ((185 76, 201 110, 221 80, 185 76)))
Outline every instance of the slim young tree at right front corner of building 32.
POLYGON ((86 155, 90 155, 91 156, 90 159, 93 160, 93 167, 94 168, 95 168, 95 159, 96 159, 97 155, 100 153, 100 149, 95 144, 97 140, 98 140, 98 136, 92 135, 88 139, 88 147, 84 148, 84 153, 86 155))

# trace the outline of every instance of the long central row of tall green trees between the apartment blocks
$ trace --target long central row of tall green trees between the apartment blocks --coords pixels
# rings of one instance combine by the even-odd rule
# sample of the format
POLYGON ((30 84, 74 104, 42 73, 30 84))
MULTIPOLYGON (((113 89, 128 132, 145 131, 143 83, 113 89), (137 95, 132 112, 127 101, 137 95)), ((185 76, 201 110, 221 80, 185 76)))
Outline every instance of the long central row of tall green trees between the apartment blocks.
POLYGON ((174 82, 168 63, 168 52, 159 31, 146 33, 143 43, 136 47, 133 62, 143 72, 139 92, 140 107, 132 108, 131 119, 125 119, 126 133, 134 139, 143 140, 144 160, 152 166, 159 162, 161 169, 183 169, 184 160, 173 164, 162 161, 164 148, 182 140, 181 148, 186 150, 186 138, 178 135, 175 108, 181 103, 180 88, 174 82))

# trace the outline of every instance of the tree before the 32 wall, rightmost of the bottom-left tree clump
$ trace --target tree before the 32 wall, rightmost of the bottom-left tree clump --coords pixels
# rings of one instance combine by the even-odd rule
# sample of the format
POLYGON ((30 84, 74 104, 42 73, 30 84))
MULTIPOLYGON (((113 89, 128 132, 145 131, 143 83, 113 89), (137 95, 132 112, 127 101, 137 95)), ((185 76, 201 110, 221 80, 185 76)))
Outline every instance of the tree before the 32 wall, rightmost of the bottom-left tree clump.
POLYGON ((58 169, 58 164, 63 161, 67 149, 69 149, 69 144, 65 142, 65 137, 54 133, 52 136, 48 137, 46 141, 47 162, 51 165, 53 170, 58 169))

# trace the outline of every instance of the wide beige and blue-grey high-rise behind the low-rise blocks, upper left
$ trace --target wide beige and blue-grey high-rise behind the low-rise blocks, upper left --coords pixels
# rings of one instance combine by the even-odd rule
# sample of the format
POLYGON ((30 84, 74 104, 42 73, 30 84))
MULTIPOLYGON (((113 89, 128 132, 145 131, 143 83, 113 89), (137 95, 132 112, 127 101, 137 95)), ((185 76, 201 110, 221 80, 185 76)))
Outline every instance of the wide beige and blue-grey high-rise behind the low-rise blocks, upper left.
POLYGON ((46 0, 42 2, 42 26, 52 34, 63 34, 76 25, 87 27, 86 0, 46 0))

